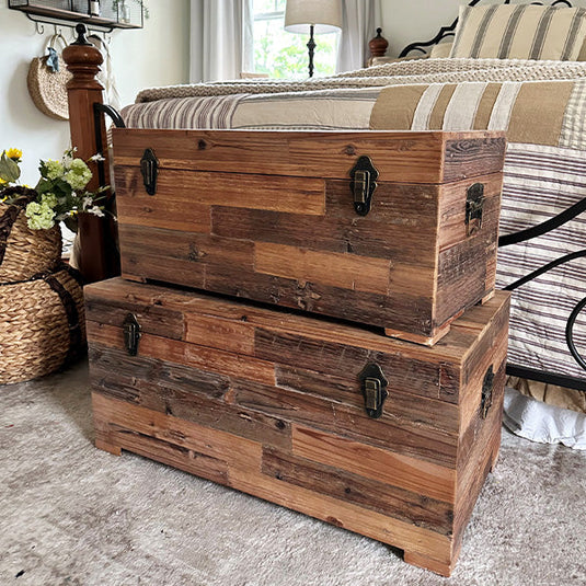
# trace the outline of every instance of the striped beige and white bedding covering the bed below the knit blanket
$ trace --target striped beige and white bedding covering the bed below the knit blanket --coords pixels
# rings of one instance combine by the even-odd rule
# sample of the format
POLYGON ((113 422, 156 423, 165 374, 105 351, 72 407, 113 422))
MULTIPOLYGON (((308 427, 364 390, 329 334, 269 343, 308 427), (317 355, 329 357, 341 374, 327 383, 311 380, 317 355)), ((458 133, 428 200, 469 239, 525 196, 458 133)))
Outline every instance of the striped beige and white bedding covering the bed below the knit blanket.
MULTIPOLYGON (((418 66, 421 67, 421 66, 418 66)), ((501 233, 540 223, 586 197, 586 76, 503 79, 168 97, 123 111, 129 127, 246 129, 504 129, 508 149, 501 233)), ((586 69, 584 69, 586 72, 586 69)), ((578 217, 529 243, 499 249, 503 287, 559 256, 586 248, 578 217)), ((562 265, 513 296, 509 363, 586 378, 565 345, 566 319, 586 297, 586 260, 562 265)), ((586 355, 586 318, 575 325, 586 355)))

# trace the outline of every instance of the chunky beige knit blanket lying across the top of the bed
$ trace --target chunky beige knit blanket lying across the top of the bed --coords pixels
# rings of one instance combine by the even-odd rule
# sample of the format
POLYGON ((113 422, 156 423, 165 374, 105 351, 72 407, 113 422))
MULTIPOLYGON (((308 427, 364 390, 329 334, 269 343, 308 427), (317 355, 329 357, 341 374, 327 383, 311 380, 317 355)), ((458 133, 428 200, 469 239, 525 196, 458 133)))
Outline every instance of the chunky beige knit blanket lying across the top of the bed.
POLYGON ((168 85, 142 90, 136 99, 154 102, 172 97, 233 94, 274 94, 332 89, 382 88, 414 83, 462 81, 573 80, 586 77, 586 61, 535 61, 517 59, 413 59, 348 71, 326 78, 292 80, 234 80, 168 85))

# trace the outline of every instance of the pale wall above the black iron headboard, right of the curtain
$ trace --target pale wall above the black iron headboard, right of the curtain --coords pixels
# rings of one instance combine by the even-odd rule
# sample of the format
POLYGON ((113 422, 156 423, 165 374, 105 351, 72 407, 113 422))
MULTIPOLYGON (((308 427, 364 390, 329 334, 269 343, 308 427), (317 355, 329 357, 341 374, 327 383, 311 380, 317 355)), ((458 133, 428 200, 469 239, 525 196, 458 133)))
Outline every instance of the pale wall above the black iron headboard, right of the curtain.
MULTIPOLYGON (((401 49, 415 41, 432 39, 439 28, 458 16, 460 4, 469 0, 381 0, 382 36, 389 42, 387 55, 397 57, 401 49)), ((497 3, 487 0, 485 3, 497 3)), ((528 0, 513 0, 528 3, 528 0)), ((586 7, 586 0, 574 0, 574 7, 586 7)))

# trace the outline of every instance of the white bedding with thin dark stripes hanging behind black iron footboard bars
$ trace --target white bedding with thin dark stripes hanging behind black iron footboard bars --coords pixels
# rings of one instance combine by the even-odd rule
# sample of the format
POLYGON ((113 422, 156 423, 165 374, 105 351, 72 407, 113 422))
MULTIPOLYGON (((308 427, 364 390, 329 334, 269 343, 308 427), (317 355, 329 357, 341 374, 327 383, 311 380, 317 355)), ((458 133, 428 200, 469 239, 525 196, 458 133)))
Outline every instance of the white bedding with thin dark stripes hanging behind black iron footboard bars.
MULTIPOLYGON (((507 234, 540 223, 586 197, 586 152, 559 147, 510 143, 499 230, 507 234)), ((586 218, 578 216, 530 242, 498 250, 497 281, 502 288, 553 258, 584 250, 586 218)), ((584 377, 567 359, 565 322, 586 296, 586 258, 561 265, 518 288, 512 298, 508 360, 584 377)), ((586 318, 578 315, 574 337, 586 352, 586 318)))

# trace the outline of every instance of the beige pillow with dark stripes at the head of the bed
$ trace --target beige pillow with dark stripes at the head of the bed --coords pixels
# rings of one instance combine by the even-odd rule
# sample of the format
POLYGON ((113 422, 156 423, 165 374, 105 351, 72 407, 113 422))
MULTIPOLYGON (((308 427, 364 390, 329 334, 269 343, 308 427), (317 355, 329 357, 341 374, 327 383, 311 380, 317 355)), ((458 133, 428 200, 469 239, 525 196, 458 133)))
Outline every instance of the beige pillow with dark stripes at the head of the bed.
POLYGON ((463 5, 450 57, 574 61, 585 37, 583 8, 463 5))

